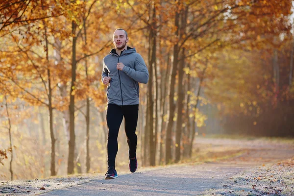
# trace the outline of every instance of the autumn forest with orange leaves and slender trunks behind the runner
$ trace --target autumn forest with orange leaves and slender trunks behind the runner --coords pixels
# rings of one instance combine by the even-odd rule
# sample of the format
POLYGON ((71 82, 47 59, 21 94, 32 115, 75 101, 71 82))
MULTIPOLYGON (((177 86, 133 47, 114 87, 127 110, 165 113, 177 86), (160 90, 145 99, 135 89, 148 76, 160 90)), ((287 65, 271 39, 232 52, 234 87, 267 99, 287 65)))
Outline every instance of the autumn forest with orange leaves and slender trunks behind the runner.
MULTIPOLYGON (((292 0, 1 0, 0 179, 106 172, 102 58, 124 28, 145 59, 140 165, 197 135, 294 136, 292 0)), ((127 169, 123 124, 117 168, 127 169)))

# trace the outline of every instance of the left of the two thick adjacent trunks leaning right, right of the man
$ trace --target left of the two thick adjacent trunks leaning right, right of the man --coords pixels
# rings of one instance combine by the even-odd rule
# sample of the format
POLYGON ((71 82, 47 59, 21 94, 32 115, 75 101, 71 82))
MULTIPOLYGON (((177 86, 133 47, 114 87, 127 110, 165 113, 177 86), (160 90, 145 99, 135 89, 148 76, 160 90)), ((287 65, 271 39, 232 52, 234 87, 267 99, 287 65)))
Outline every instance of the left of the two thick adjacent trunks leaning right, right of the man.
MULTIPOLYGON (((175 32, 176 37, 179 35, 179 13, 175 13, 175 22, 174 25, 176 26, 177 30, 175 32)), ((167 134, 166 134, 166 156, 165 162, 166 164, 170 163, 172 160, 172 126, 173 126, 173 117, 175 111, 175 104, 174 104, 174 85, 175 85, 175 76, 177 72, 177 64, 178 64, 178 52, 179 46, 178 42, 176 42, 173 46, 173 62, 172 62, 172 76, 171 76, 171 85, 170 85, 170 95, 169 95, 169 122, 167 127, 167 134)))

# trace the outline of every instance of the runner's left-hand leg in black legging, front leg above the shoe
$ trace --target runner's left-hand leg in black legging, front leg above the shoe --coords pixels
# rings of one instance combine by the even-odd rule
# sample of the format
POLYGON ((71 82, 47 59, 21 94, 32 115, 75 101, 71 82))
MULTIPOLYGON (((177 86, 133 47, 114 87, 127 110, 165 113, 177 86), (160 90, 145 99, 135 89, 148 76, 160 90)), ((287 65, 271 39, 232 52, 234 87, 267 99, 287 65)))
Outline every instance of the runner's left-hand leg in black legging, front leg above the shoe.
POLYGON ((118 135, 121 123, 123 121, 123 112, 121 106, 108 104, 106 111, 106 122, 108 127, 107 137, 107 164, 115 168, 115 157, 118 152, 118 135))

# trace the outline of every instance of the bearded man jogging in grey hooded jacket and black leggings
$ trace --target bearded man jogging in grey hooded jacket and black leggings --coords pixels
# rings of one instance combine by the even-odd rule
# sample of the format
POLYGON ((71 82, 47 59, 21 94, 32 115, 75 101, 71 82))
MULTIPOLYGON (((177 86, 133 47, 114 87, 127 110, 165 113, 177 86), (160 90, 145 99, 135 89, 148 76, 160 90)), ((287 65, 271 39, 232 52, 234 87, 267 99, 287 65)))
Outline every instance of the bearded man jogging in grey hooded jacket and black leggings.
POLYGON ((125 133, 129 146, 129 169, 135 172, 138 167, 136 149, 136 127, 139 111, 139 82, 146 84, 149 73, 142 56, 135 48, 126 44, 127 33, 122 28, 115 30, 113 44, 115 49, 103 58, 102 82, 107 86, 108 127, 107 164, 105 179, 117 178, 115 157, 118 152, 118 134, 124 117, 125 133))

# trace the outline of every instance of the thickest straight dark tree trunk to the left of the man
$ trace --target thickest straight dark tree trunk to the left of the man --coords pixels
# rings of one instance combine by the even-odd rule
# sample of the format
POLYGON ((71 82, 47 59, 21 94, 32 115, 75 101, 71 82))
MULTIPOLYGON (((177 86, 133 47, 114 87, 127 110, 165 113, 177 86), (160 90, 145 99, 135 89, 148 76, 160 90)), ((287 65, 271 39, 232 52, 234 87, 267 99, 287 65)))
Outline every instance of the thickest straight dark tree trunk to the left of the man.
POLYGON ((73 90, 75 88, 76 78, 76 40, 75 35, 76 24, 72 22, 72 34, 73 34, 73 56, 72 56, 72 84, 70 90, 70 140, 69 140, 69 157, 68 157, 68 173, 72 174, 74 169, 74 149, 75 149, 75 133, 74 133, 74 95, 73 90))

